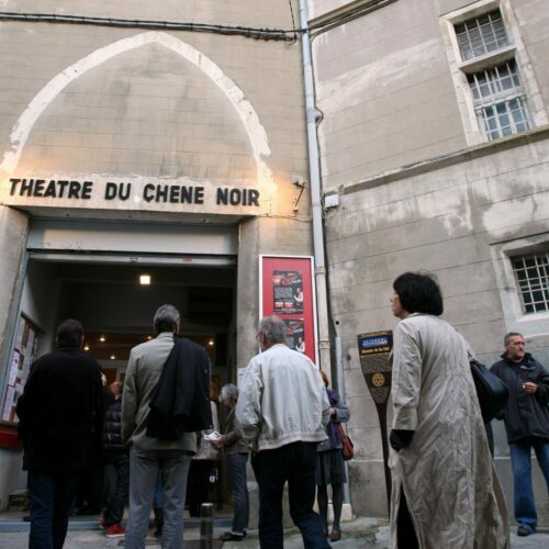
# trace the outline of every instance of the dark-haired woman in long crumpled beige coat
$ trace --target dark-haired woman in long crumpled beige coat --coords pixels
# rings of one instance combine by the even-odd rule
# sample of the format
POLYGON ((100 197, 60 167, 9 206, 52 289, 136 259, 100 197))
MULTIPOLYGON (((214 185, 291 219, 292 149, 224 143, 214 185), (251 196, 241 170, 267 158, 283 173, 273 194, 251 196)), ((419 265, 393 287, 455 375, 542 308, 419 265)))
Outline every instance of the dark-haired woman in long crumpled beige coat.
POLYGON ((393 283, 392 545, 413 549, 504 549, 508 517, 492 463, 469 345, 438 317, 428 276, 393 283))

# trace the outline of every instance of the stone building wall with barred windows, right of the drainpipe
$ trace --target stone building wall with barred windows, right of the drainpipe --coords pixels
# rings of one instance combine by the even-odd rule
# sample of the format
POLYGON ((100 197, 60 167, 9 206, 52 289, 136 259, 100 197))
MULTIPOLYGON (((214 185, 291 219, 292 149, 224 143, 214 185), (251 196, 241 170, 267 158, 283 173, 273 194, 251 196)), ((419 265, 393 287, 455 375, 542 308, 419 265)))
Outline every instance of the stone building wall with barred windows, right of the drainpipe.
POLYGON ((358 441, 352 509, 379 514, 381 440, 357 335, 394 327, 397 274, 437 276, 444 317, 483 362, 518 330, 549 366, 549 5, 324 0, 310 20, 323 192, 339 204, 325 211, 326 262, 358 441))

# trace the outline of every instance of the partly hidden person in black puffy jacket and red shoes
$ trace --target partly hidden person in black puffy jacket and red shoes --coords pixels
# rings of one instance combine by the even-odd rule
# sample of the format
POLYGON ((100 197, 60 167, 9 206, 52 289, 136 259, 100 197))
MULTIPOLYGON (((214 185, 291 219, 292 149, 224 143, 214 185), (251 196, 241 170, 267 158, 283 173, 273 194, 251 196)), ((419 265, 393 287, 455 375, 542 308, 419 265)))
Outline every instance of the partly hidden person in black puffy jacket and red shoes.
POLYGON ((103 423, 103 457, 105 464, 111 464, 116 474, 114 491, 103 512, 102 526, 107 528, 107 537, 124 536, 122 526, 124 506, 130 486, 128 449, 122 441, 122 383, 116 382, 115 401, 109 406, 103 423))

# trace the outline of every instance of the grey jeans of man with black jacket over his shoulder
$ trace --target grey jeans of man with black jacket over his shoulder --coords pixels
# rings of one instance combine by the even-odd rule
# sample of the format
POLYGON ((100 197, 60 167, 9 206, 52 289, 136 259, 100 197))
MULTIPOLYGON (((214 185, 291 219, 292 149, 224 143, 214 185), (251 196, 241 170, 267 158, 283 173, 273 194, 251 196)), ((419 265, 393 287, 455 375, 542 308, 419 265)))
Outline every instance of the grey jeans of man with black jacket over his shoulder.
POLYGON ((182 450, 130 450, 130 517, 126 549, 143 549, 150 507, 163 470, 163 549, 183 547, 183 512, 191 456, 182 450))

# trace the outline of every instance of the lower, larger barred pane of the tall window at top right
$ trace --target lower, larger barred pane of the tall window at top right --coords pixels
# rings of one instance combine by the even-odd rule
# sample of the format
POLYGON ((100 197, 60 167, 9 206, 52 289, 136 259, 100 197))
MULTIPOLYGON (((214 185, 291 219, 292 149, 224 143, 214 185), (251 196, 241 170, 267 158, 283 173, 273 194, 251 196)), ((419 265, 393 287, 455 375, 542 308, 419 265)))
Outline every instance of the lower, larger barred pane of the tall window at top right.
POLYGON ((467 78, 479 125, 490 141, 530 127, 526 96, 514 59, 467 78))

